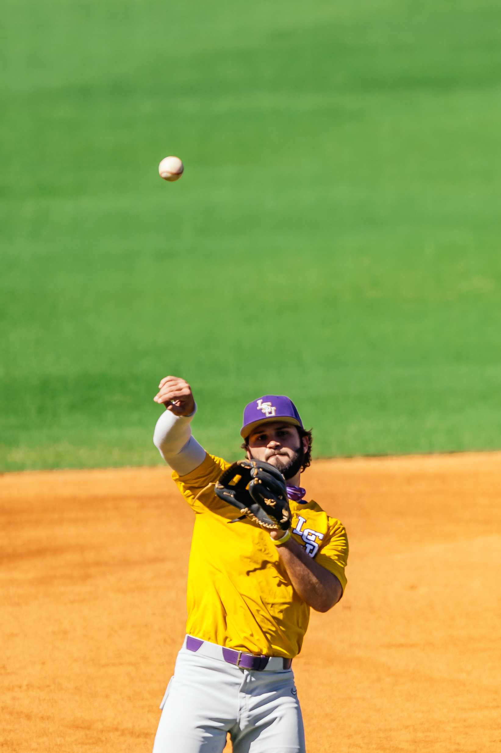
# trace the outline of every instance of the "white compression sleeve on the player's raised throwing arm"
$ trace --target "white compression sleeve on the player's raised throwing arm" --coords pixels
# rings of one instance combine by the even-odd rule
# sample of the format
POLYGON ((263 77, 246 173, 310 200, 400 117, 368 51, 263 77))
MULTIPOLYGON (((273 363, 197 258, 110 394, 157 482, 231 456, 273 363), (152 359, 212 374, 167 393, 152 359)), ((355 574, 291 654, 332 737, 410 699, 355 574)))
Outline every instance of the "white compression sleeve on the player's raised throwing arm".
POLYGON ((165 410, 156 422, 153 444, 173 471, 184 476, 197 468, 205 460, 205 450, 191 434, 191 416, 176 416, 172 410, 165 410))

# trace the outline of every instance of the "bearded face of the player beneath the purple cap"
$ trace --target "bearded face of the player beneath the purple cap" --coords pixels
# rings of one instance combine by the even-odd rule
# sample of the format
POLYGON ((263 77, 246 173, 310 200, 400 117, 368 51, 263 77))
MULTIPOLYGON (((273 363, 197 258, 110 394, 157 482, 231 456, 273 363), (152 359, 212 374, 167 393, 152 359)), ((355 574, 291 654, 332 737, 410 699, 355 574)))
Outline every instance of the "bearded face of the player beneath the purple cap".
POLYGON ((308 448, 308 439, 300 439, 296 426, 280 421, 257 426, 247 442, 251 458, 275 465, 286 479, 299 473, 302 458, 308 448))

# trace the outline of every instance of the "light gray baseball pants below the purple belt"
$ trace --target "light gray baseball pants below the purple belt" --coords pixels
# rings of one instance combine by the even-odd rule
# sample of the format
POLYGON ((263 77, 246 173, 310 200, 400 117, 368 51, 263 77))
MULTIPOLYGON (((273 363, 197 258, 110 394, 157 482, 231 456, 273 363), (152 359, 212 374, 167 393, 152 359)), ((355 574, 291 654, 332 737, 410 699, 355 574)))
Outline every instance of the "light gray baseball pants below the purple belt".
POLYGON ((223 660, 205 642, 179 651, 160 709, 153 753, 305 753, 305 734, 292 669, 270 660, 261 672, 223 660))

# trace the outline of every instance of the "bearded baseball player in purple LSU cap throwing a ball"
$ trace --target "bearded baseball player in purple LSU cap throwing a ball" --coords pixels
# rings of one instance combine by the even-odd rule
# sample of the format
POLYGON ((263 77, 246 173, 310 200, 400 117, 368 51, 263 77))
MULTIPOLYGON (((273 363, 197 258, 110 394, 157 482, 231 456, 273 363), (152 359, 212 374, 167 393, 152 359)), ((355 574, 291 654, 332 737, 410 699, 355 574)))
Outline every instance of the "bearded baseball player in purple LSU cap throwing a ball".
POLYGON ((244 408, 242 448, 250 462, 242 464, 262 465, 273 471, 263 477, 275 475, 287 486, 290 520, 263 529, 215 492, 230 464, 206 453, 191 434, 190 385, 165 377, 153 399, 166 408, 153 442, 195 513, 187 636, 160 705, 153 753, 221 753, 227 733, 234 753, 305 753, 291 664, 310 609, 325 612, 341 599, 348 558, 342 523, 308 501, 300 486, 311 432, 284 395, 244 408))

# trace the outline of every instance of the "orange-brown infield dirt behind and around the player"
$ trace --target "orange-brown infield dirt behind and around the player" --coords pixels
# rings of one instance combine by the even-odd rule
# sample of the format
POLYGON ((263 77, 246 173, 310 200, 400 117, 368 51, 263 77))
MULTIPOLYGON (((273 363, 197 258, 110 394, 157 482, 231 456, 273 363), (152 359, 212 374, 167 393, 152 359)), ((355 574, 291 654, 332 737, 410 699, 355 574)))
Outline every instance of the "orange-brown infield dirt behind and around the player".
MULTIPOLYGON (((303 483, 351 544, 293 663, 308 753, 501 751, 501 453, 316 461, 303 483)), ((150 753, 193 524, 169 470, 5 474, 0 498, 0 748, 150 753)))

